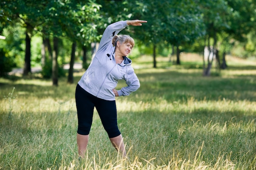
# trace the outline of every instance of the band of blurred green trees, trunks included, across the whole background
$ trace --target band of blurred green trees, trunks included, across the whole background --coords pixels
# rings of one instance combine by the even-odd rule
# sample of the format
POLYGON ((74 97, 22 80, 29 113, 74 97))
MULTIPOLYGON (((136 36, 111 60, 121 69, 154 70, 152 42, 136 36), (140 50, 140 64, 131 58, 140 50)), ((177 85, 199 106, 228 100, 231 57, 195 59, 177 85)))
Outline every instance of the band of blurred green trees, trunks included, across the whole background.
MULTIPOLYGON (((127 27, 122 34, 136 40, 130 57, 181 52, 212 51, 218 68, 225 69, 225 55, 256 55, 256 0, 2 0, 0 2, 0 76, 14 67, 31 74, 31 66, 42 67, 42 75, 65 75, 73 83, 73 66, 90 64, 95 44, 108 24, 119 20, 147 20, 143 27, 127 27)), ((203 55, 202 55, 203 56, 203 55)), ((204 75, 213 60, 204 56, 204 75)))

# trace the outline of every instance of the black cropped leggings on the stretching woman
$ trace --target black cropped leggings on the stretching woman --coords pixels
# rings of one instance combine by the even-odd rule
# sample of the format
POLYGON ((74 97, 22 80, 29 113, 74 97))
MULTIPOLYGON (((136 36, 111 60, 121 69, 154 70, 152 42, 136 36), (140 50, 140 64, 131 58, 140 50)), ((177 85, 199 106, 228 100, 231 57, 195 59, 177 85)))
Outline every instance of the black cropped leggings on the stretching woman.
POLYGON ((94 107, 97 109, 101 123, 108 133, 108 137, 121 134, 117 126, 116 102, 100 99, 85 91, 79 84, 76 86, 76 110, 78 117, 77 133, 89 135, 92 126, 94 107))

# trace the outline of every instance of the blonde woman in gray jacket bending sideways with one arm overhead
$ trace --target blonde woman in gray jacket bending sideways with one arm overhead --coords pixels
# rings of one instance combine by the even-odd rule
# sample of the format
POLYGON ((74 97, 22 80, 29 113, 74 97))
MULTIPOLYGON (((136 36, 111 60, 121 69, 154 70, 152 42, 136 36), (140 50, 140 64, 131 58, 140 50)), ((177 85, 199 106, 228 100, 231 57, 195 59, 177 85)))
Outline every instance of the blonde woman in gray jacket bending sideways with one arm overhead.
POLYGON ((92 126, 94 107, 99 113, 104 129, 112 145, 126 157, 123 137, 117 126, 115 97, 130 95, 139 88, 139 79, 126 57, 134 46, 129 35, 117 35, 126 26, 141 26, 143 20, 127 20, 110 24, 104 31, 98 51, 89 68, 76 86, 78 117, 77 145, 84 157, 92 126), (116 90, 117 81, 124 79, 127 86, 116 90))

